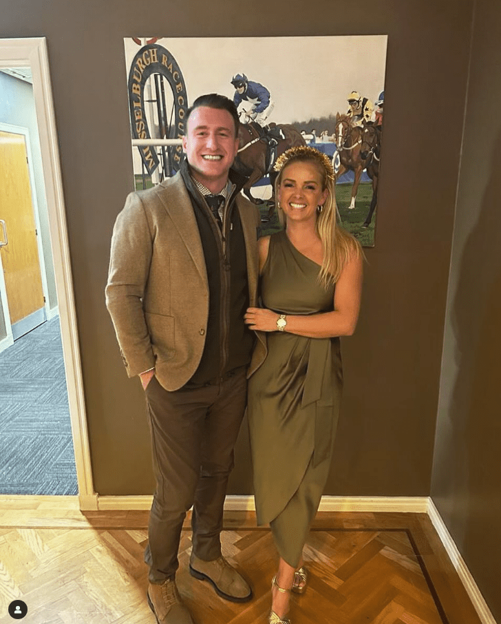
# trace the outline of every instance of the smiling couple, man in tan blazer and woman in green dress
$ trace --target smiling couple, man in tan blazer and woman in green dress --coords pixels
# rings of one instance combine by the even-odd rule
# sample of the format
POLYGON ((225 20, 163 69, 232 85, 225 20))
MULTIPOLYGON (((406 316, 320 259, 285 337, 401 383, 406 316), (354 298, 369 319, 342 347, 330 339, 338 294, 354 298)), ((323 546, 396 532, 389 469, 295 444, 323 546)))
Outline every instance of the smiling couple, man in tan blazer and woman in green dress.
POLYGON ((107 307, 151 430, 145 561, 158 624, 193 623, 175 585, 192 505, 191 574, 229 601, 252 598, 220 543, 247 372, 257 519, 270 523, 279 552, 269 621, 288 622, 290 592, 306 589, 301 552, 330 464, 339 336, 352 333, 359 311, 361 250, 337 227, 330 161, 308 147, 279 159, 286 230, 258 241, 259 214, 231 169, 238 126, 228 98, 195 100, 179 173, 131 193, 111 241, 107 307))

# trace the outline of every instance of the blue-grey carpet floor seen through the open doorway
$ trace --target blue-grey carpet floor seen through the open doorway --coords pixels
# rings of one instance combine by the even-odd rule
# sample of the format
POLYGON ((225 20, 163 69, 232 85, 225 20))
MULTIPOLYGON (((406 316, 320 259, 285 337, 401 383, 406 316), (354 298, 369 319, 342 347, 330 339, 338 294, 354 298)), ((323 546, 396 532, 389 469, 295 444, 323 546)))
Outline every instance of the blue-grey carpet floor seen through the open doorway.
POLYGON ((0 353, 0 494, 77 493, 56 317, 0 353))

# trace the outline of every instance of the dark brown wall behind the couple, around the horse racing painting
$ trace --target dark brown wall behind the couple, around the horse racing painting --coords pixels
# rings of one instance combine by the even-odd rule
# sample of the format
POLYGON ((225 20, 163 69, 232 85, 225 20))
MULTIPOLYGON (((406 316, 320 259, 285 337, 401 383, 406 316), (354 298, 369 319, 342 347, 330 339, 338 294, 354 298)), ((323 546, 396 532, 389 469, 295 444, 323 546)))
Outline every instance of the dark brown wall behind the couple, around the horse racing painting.
MULTIPOLYGON (((140 384, 122 368, 103 295, 111 228, 132 182, 122 38, 382 33, 389 39, 376 247, 367 251, 359 329, 343 344, 345 401, 326 493, 429 494, 471 4, 0 0, 1 37, 48 41, 101 495, 153 487, 140 384)), ((231 492, 250 492, 250 470, 242 433, 231 492)))

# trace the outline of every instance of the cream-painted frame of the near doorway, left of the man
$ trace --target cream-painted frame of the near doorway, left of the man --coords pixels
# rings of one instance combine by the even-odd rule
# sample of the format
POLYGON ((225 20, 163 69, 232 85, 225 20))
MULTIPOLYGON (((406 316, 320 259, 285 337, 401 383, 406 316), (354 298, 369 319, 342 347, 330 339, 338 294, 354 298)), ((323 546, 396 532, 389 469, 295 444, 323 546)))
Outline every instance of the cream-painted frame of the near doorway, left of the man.
POLYGON ((45 37, 0 39, 0 67, 30 67, 54 260, 61 339, 81 509, 97 509, 73 294, 63 183, 45 37))

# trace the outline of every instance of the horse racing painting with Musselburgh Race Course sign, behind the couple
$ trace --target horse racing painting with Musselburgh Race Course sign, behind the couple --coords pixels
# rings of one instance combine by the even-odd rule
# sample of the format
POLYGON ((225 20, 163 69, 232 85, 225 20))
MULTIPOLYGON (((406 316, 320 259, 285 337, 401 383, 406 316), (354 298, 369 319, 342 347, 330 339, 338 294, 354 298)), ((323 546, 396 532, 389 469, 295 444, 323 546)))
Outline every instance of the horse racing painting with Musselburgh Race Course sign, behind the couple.
POLYGON ((125 41, 136 189, 175 175, 186 114, 206 93, 231 98, 240 118, 234 167, 279 229, 273 164, 294 145, 332 159, 339 218, 374 246, 385 94, 386 35, 140 38, 125 41), (206 59, 211 59, 210 66, 206 59), (271 174, 271 179, 270 179, 271 174))

